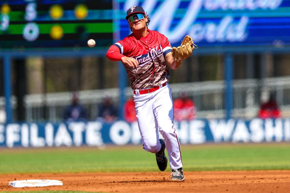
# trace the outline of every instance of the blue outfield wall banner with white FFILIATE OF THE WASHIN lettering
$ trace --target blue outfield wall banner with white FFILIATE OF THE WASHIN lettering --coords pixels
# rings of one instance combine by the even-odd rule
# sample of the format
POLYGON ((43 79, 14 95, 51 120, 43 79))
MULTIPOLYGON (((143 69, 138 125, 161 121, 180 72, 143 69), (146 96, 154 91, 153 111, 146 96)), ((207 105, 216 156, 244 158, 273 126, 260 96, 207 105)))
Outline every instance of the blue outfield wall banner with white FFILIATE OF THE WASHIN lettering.
MULTIPOLYGON (((174 128, 181 144, 290 141, 290 119, 193 120, 175 122, 174 128)), ((1 147, 104 146, 139 143, 141 136, 137 122, 0 124, 1 147)))

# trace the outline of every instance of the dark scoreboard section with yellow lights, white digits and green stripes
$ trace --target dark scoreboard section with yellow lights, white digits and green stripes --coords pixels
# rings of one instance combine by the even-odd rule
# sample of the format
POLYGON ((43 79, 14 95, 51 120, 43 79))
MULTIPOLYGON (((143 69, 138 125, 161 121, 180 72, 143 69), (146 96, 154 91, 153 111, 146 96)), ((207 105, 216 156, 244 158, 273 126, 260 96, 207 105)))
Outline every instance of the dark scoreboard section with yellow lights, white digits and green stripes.
POLYGON ((112 45, 112 1, 0 0, 0 49, 112 45))

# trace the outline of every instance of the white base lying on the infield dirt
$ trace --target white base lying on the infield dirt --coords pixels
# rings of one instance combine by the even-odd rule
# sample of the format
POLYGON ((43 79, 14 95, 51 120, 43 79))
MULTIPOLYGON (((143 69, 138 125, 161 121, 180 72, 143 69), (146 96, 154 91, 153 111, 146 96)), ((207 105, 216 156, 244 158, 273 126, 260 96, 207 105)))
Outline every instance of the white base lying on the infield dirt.
POLYGON ((54 186, 60 185, 62 186, 62 181, 59 180, 16 180, 9 182, 8 186, 12 186, 14 188, 22 188, 22 187, 43 187, 43 186, 54 186))

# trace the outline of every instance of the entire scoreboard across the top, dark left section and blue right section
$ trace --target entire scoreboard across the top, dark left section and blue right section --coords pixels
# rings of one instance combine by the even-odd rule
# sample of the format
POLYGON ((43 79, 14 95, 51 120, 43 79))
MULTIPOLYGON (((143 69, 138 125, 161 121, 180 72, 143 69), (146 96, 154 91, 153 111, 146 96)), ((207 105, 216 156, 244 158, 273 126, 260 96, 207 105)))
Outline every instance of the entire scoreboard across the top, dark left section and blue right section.
POLYGON ((132 4, 172 46, 187 34, 199 47, 290 46, 290 0, 0 0, 0 49, 88 48, 88 39, 90 49, 109 47, 113 33, 131 33, 132 4))

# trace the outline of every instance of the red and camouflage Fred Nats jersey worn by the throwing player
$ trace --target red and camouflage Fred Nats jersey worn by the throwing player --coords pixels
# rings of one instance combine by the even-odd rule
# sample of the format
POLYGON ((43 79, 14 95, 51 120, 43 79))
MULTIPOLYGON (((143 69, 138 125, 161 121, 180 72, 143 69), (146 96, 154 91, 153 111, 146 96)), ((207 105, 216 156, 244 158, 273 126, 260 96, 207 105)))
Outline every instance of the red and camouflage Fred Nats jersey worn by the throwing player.
POLYGON ((169 81, 169 68, 164 56, 171 52, 168 38, 157 31, 148 30, 146 37, 137 38, 132 34, 114 45, 120 53, 133 57, 139 62, 136 68, 124 65, 132 89, 146 89, 169 81))

